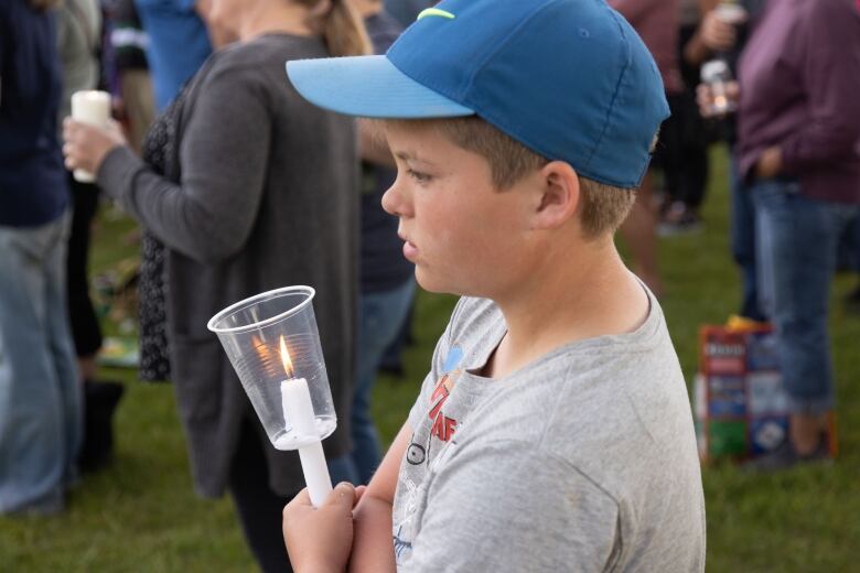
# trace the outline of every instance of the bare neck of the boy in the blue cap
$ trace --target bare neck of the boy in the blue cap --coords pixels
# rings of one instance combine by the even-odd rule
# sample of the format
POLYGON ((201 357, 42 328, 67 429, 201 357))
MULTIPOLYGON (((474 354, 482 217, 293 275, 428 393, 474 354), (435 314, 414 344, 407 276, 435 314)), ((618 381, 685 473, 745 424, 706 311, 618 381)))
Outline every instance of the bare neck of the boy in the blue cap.
POLYGON ((577 340, 633 332, 647 317, 647 294, 613 242, 569 252, 566 264, 551 260, 495 300, 508 329, 483 376, 506 376, 577 340))

